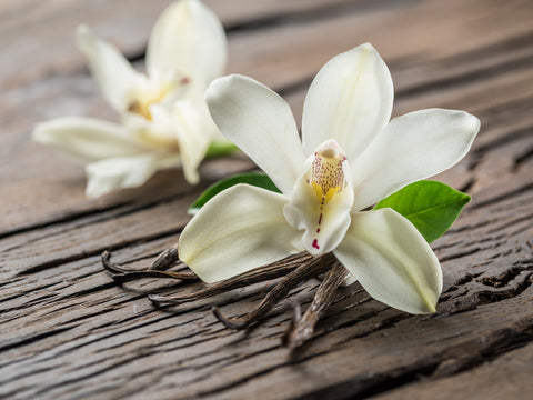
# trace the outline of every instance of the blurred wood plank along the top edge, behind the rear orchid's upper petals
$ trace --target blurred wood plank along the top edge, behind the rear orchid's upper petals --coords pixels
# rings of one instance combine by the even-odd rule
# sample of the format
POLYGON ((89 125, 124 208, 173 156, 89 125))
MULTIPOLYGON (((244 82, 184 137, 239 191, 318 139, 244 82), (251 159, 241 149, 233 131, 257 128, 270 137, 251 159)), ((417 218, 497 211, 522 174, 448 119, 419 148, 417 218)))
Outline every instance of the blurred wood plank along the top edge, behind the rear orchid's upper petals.
MULTIPOLYGON (((81 63, 73 34, 80 23, 123 49, 129 57, 143 54, 150 29, 170 0, 139 1, 48 1, 2 2, 0 48, 7 59, 0 67, 0 87, 12 88, 27 80, 46 78, 53 71, 69 71, 81 63), (112 16, 112 18, 109 18, 112 16), (17 41, 13 41, 17 36, 17 41)), ((261 1, 208 0, 223 23, 232 29, 245 23, 291 18, 301 12, 316 13, 345 8, 348 0, 261 1)), ((353 2, 351 2, 353 6, 353 2)))

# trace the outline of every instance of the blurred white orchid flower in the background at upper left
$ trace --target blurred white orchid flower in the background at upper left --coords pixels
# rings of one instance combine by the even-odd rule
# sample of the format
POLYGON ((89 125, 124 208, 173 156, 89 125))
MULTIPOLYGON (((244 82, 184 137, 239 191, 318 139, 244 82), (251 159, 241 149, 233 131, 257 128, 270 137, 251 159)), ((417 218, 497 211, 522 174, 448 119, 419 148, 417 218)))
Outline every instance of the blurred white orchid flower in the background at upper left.
POLYGON ((39 123, 33 140, 87 164, 87 194, 143 184, 181 164, 198 183, 198 166, 220 136, 204 101, 227 61, 224 30, 198 0, 180 0, 157 21, 147 48, 147 74, 110 43, 79 27, 78 47, 121 124, 82 117, 39 123))

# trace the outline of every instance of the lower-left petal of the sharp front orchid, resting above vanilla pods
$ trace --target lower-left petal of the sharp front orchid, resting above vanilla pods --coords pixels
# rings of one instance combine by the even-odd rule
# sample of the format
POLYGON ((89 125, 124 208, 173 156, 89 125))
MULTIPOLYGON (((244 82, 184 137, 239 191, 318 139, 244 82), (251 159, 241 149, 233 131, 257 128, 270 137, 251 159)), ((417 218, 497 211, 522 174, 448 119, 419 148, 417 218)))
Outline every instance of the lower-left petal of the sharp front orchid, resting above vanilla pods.
POLYGON ((179 254, 205 282, 299 252, 301 233, 283 217, 283 194, 237 184, 215 196, 180 236, 179 254))

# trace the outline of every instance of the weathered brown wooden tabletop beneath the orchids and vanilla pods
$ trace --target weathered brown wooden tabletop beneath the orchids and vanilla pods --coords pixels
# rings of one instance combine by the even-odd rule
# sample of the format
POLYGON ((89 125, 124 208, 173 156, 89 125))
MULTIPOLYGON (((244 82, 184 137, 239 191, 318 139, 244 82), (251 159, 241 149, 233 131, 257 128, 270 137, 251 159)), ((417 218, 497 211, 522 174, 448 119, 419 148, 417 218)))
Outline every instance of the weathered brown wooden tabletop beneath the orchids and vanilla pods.
MULTIPOLYGON (((117 287, 107 249, 131 267, 173 244, 187 206, 244 157, 205 162, 144 188, 83 197, 81 167, 30 141, 32 126, 80 114, 113 120, 73 44, 89 23, 142 68, 165 0, 4 0, 0 4, 0 398, 525 399, 533 390, 533 2, 496 0, 208 1, 230 39, 228 72, 280 91, 299 119, 314 73, 370 41, 395 83, 395 114, 445 107, 476 114, 470 154, 438 179, 473 197, 433 243, 444 269, 438 313, 339 291, 315 338, 280 346, 282 308, 249 332, 207 301, 169 311, 158 282, 117 287)), ((220 296, 242 314, 269 284, 220 296)), ((309 304, 316 282, 294 298, 309 304)), ((197 284, 173 288, 187 292, 197 284)))

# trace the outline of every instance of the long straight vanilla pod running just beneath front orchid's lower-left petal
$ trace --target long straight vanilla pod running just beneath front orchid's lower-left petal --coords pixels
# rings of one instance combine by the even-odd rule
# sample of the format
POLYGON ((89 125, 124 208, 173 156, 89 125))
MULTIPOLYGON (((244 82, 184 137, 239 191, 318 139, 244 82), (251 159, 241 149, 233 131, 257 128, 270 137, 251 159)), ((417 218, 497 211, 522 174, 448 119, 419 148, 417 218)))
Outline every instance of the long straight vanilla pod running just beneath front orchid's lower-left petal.
POLYGON ((286 276, 291 271, 295 270, 302 262, 309 262, 312 260, 312 256, 309 253, 299 253, 294 256, 289 256, 288 258, 270 263, 264 267, 257 268, 249 272, 241 273, 234 278, 227 279, 224 281, 213 283, 204 289, 198 290, 189 294, 181 294, 174 297, 157 296, 149 294, 148 298, 155 306, 163 304, 182 304, 189 301, 195 301, 200 299, 205 299, 213 297, 215 294, 242 288, 245 286, 263 282, 266 280, 280 278, 286 276))

